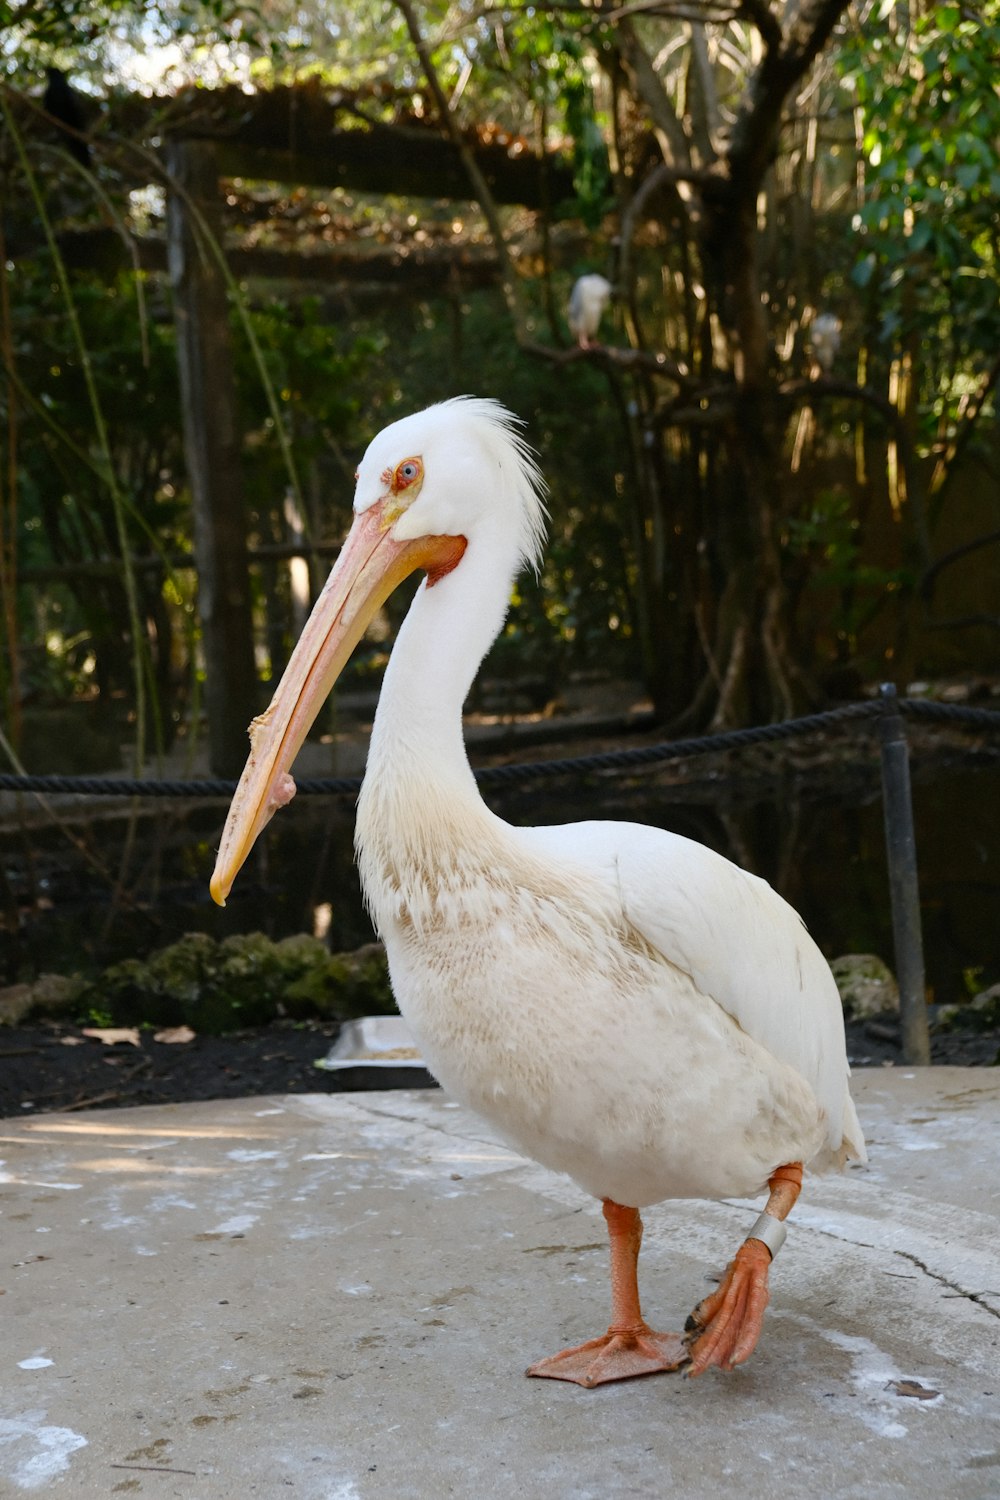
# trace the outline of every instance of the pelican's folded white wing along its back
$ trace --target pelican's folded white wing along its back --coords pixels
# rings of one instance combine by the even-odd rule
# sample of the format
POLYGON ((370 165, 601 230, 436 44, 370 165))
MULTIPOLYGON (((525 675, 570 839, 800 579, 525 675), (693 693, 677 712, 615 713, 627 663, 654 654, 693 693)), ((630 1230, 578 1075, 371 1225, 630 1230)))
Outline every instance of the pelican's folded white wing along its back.
POLYGON ((520 832, 540 854, 613 884, 624 920, 810 1083, 831 1122, 831 1150, 843 1140, 864 1160, 837 984, 802 918, 766 880, 705 844, 642 824, 520 832))

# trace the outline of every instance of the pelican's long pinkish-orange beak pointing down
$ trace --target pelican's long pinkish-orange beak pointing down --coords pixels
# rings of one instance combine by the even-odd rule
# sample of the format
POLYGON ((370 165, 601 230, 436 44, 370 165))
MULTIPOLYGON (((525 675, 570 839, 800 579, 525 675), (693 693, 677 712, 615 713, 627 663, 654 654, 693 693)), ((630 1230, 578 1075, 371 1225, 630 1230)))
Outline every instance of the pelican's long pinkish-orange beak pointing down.
POLYGON ((250 724, 250 754, 211 876, 211 898, 219 906, 225 906, 258 834, 295 795, 292 762, 375 612, 417 568, 439 578, 465 550, 465 537, 397 542, 391 531, 397 516, 393 496, 355 516, 270 705, 250 724))

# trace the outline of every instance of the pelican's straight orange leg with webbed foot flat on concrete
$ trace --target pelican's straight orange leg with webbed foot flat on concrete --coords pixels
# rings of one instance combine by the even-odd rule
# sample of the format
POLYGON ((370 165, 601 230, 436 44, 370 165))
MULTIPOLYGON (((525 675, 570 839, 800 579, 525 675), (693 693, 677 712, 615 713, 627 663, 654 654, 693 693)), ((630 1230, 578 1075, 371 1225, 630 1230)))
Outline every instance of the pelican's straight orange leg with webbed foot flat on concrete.
POLYGON ((678 1370, 688 1359, 684 1338, 679 1334, 654 1334, 639 1308, 639 1209, 604 1198, 604 1218, 612 1242, 612 1326, 601 1338, 529 1365, 529 1376, 600 1386, 606 1380, 631 1380, 634 1376, 678 1370))

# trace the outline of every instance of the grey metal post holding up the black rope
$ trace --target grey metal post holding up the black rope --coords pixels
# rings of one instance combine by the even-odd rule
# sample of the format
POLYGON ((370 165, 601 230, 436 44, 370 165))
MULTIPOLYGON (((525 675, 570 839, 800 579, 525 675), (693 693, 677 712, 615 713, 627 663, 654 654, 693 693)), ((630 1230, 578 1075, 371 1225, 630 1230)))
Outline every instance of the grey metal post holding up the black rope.
POLYGON ((916 879, 910 756, 895 684, 883 682, 879 696, 883 708, 879 720, 882 804, 886 818, 886 858, 892 900, 892 939, 900 982, 903 1060, 928 1064, 931 1060, 931 1038, 927 1026, 927 994, 924 990, 924 936, 921 932, 921 892, 916 879))

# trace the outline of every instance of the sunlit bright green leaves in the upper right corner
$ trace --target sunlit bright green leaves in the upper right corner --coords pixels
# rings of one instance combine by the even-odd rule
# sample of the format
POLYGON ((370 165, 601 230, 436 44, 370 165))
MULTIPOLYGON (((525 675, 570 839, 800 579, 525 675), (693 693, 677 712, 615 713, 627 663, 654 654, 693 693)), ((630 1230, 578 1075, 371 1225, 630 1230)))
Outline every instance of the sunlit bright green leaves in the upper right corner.
POLYGON ((883 4, 838 57, 864 120, 855 285, 886 346, 919 339, 925 441, 1000 342, 1000 4, 883 4), (928 340, 934 332, 936 339, 928 340))

